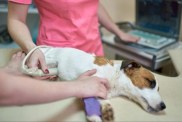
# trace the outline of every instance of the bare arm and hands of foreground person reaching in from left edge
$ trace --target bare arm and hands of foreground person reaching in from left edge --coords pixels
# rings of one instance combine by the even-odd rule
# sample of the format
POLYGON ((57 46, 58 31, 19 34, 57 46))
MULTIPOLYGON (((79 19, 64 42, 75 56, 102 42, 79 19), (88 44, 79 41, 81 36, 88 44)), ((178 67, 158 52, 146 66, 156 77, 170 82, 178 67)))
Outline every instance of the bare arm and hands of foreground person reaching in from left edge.
POLYGON ((24 57, 18 52, 0 69, 0 106, 49 103, 70 97, 106 98, 108 82, 91 77, 95 70, 85 72, 76 82, 47 82, 21 74, 19 67, 24 57))

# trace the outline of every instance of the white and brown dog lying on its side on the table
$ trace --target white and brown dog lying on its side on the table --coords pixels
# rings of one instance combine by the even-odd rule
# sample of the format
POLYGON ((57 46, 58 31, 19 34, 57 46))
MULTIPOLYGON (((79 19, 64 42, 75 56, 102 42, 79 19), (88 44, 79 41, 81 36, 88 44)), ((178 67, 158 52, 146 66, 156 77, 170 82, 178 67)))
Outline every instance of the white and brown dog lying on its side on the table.
POLYGON ((58 75, 62 80, 68 81, 91 69, 97 69, 94 75, 106 78, 111 88, 106 100, 99 99, 102 118, 95 115, 88 116, 89 121, 114 121, 114 112, 109 99, 118 96, 128 97, 147 112, 159 112, 166 108, 153 73, 134 61, 121 61, 121 64, 118 64, 105 57, 94 56, 75 48, 37 46, 26 55, 22 63, 22 71, 25 74, 58 75), (28 57, 36 49, 43 52, 47 65, 56 67, 49 69, 49 74, 44 74, 40 69, 29 69, 25 65, 28 57))

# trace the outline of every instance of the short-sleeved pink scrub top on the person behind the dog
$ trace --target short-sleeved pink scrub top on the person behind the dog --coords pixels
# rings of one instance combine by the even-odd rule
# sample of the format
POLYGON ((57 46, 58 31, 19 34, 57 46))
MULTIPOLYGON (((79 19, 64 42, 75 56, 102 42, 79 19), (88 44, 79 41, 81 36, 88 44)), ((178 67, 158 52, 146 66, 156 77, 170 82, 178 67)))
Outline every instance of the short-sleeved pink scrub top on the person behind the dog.
MULTIPOLYGON (((9 0, 31 4, 32 0, 9 0)), ((37 45, 73 47, 103 56, 99 33, 99 0, 34 0, 40 26, 37 45)))

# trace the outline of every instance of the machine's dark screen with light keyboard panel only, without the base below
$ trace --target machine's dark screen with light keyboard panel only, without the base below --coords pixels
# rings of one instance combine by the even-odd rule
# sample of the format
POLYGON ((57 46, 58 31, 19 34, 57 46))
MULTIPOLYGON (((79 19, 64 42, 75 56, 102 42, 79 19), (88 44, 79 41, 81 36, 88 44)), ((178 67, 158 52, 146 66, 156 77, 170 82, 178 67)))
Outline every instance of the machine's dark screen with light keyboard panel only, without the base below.
POLYGON ((130 34, 138 45, 162 49, 179 40, 181 0, 136 0, 136 23, 130 34))

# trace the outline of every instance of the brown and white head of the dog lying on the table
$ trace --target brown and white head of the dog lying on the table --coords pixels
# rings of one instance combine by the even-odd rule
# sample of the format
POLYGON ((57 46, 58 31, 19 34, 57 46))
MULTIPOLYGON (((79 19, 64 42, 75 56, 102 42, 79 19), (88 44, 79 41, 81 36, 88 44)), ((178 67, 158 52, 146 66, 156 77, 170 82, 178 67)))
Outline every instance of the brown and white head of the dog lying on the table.
POLYGON ((128 83, 125 95, 139 103, 148 112, 159 112, 166 108, 160 94, 158 83, 149 70, 134 61, 123 61, 121 72, 128 83))

